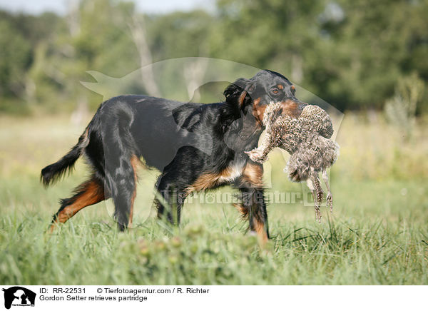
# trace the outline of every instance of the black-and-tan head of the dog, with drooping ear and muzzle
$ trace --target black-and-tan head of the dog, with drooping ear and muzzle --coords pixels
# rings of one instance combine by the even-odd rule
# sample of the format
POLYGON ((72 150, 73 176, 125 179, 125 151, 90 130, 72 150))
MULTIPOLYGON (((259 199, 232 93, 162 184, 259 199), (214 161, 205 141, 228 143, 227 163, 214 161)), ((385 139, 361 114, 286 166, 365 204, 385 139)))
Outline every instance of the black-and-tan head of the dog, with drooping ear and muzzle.
POLYGON ((263 116, 269 103, 281 102, 282 115, 298 118, 307 103, 295 97, 295 86, 280 73, 259 71, 253 78, 239 78, 225 91, 226 103, 239 111, 252 113, 263 128, 263 116))

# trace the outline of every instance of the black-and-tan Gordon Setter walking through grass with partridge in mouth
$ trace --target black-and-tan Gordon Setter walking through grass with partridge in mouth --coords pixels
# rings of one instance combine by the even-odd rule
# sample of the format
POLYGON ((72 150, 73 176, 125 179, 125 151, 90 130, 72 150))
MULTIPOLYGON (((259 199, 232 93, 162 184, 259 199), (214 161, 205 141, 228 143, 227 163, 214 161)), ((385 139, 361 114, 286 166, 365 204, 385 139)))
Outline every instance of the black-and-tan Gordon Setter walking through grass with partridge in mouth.
POLYGON ((224 102, 210 104, 141 95, 103 102, 76 146, 41 170, 46 186, 71 170, 81 155, 92 171, 71 198, 61 200, 51 230, 82 208, 108 198, 113 198, 118 228, 127 228, 136 197, 136 170, 143 159, 162 172, 156 183, 159 218, 178 224, 187 195, 233 185, 240 190, 238 209, 248 218, 250 230, 263 240, 269 238, 263 165, 244 151, 258 146, 270 102, 281 101, 282 114, 296 118, 306 104, 295 98, 295 86, 285 76, 268 70, 239 78, 224 95, 224 102))

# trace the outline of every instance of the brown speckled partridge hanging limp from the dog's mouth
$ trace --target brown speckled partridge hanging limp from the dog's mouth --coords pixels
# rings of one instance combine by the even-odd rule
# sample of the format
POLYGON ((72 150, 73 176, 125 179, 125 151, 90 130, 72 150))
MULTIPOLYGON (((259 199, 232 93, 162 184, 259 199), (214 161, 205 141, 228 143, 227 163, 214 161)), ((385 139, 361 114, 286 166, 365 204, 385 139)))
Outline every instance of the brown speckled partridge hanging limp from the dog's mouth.
POLYGON ((333 134, 332 121, 322 108, 313 105, 305 106, 299 118, 281 116, 281 112, 277 103, 267 106, 263 118, 267 133, 260 147, 248 152, 248 155, 252 160, 263 163, 275 147, 290 153, 286 167, 288 176, 295 182, 307 181, 314 195, 317 219, 320 220, 322 188, 318 173, 322 171, 328 190, 327 203, 332 209, 326 170, 339 155, 339 145, 329 139, 333 134))

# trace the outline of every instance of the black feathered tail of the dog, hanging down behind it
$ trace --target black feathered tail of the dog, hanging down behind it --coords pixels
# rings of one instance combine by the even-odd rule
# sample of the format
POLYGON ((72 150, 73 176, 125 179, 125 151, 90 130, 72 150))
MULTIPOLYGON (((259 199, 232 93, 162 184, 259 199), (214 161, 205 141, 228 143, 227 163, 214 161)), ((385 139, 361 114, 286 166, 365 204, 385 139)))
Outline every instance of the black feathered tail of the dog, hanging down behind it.
POLYGON ((56 163, 48 165, 41 170, 40 179, 45 187, 49 186, 51 183, 55 183, 64 173, 67 171, 70 172, 73 169, 74 163, 83 152, 83 148, 88 146, 88 141, 88 128, 86 128, 86 131, 78 138, 78 143, 71 148, 71 151, 56 163))

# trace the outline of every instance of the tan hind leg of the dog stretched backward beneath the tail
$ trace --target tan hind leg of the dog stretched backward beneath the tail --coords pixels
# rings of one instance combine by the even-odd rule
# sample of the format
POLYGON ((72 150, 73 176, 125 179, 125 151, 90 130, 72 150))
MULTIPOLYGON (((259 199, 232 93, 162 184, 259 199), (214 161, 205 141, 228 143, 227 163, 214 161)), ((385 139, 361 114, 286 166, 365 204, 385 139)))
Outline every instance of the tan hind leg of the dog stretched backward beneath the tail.
POLYGON ((95 177, 79 185, 75 192, 76 194, 71 198, 61 200, 61 208, 59 208, 58 212, 54 215, 54 219, 49 228, 50 232, 54 230, 58 223, 65 223, 82 208, 86 208, 86 206, 96 204, 108 198, 104 191, 103 183, 95 177))

